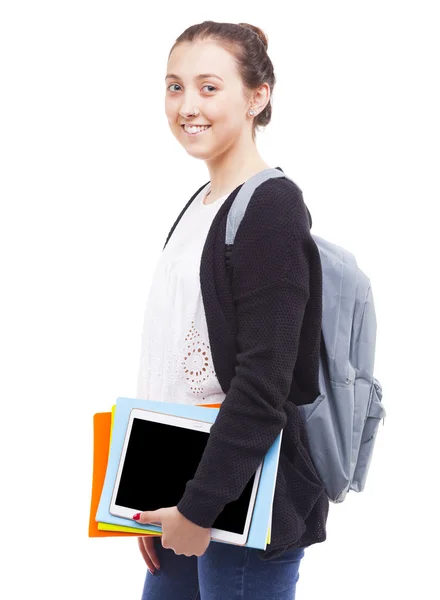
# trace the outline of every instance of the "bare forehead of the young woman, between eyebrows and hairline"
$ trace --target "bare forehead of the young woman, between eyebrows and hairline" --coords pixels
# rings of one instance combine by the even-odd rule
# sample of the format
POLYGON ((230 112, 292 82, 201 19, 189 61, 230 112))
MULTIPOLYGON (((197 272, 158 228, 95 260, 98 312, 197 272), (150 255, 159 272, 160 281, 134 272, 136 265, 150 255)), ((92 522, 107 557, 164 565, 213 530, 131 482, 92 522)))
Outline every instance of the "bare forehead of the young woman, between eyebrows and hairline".
POLYGON ((224 81, 238 75, 234 56, 212 40, 177 44, 168 59, 167 73, 185 79, 199 73, 215 73, 224 81))

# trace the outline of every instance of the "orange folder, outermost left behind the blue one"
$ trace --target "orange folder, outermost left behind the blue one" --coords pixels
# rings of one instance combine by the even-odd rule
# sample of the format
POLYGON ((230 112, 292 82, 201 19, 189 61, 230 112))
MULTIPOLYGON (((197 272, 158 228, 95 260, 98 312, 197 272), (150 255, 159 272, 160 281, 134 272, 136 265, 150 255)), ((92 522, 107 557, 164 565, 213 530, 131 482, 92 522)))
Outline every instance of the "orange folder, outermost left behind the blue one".
MULTIPOLYGON (((198 404, 197 406, 220 408, 221 404, 198 404)), ((89 537, 109 537, 121 535, 139 536, 139 533, 134 532, 103 531, 98 529, 98 523, 95 521, 96 512, 101 499, 102 488, 104 487, 105 473, 107 471, 108 455, 110 451, 111 423, 111 412, 96 413, 93 415, 93 475, 89 516, 89 537)), ((146 533, 142 535, 157 536, 158 534, 146 533)))

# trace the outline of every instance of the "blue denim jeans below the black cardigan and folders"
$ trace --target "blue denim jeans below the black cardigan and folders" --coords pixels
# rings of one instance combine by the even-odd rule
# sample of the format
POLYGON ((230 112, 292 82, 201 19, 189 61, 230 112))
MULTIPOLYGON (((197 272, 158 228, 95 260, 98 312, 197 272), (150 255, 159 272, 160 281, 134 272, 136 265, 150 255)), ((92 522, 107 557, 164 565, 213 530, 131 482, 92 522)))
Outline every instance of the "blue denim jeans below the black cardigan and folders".
POLYGON ((260 550, 211 542, 202 556, 175 554, 154 538, 160 570, 147 569, 141 600, 294 600, 304 548, 262 560, 260 550))

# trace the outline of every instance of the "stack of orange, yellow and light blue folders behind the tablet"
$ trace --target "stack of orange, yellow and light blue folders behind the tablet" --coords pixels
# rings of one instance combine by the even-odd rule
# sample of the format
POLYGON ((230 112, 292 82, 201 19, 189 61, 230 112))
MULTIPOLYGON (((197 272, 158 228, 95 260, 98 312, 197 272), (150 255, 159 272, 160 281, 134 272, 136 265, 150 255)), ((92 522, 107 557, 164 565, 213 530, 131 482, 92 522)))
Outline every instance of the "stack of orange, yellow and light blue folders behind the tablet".
MULTIPOLYGON (((112 407, 111 412, 95 414, 93 417, 93 481, 90 504, 89 537, 160 536, 162 533, 160 525, 139 524, 131 517, 116 516, 115 514, 112 514, 112 512, 115 512, 114 510, 110 512, 112 509, 112 498, 113 501, 115 501, 118 489, 117 486, 122 486, 121 469, 125 465, 122 458, 124 457, 125 460, 126 457, 129 456, 129 450, 127 450, 127 432, 134 431, 133 414, 140 414, 139 412, 135 412, 135 409, 149 412, 153 411, 162 415, 174 415, 176 417, 184 417, 185 419, 204 421, 212 424, 215 422, 220 406, 221 405, 219 404, 186 405, 171 402, 156 402, 153 400, 117 398, 116 404, 112 407), (133 429, 130 429, 131 426, 133 426, 133 429)), ((165 427, 170 427, 170 425, 165 425, 165 427)), ((275 493, 282 433, 283 432, 281 431, 269 448, 261 465, 258 488, 256 488, 255 503, 252 511, 249 513, 251 520, 246 542, 241 544, 250 548, 265 550, 267 544, 270 544, 272 505, 275 493)), ((143 489, 145 489, 145 485, 148 485, 151 486, 151 489, 153 490, 155 489, 154 486, 157 481, 154 457, 149 457, 149 460, 142 461, 142 464, 145 465, 145 468, 137 471, 139 480, 142 478, 144 485, 143 489)), ((123 471, 122 476, 124 476, 123 471)), ((169 478, 170 482, 174 481, 172 465, 171 468, 169 464, 167 465, 166 477, 169 478)), ((177 479, 178 477, 176 477, 176 480, 177 479)), ((131 483, 130 485, 133 484, 131 483)), ((177 502, 175 504, 177 504, 177 502)), ((225 507, 224 511, 226 511, 227 507, 225 507)), ((143 510, 155 510, 155 508, 162 507, 143 508, 142 506, 130 506, 129 508, 137 509, 137 512, 140 512, 143 510)), ((223 522, 226 523, 227 520, 223 522)), ((212 537, 211 540, 228 543, 228 541, 224 539, 216 540, 214 537, 212 537)))

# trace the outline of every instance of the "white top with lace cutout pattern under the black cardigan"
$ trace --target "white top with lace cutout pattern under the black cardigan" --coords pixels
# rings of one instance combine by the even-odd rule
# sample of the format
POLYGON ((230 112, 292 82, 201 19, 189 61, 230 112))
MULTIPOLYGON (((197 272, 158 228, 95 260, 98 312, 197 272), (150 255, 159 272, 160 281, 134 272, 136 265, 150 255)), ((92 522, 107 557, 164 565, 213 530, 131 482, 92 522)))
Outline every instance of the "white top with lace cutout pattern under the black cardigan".
POLYGON ((224 200, 204 204, 210 183, 187 208, 153 275, 141 342, 137 399, 217 404, 225 397, 209 346, 199 269, 211 223, 224 200))

